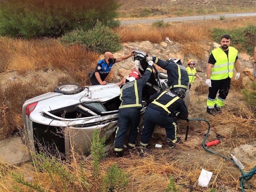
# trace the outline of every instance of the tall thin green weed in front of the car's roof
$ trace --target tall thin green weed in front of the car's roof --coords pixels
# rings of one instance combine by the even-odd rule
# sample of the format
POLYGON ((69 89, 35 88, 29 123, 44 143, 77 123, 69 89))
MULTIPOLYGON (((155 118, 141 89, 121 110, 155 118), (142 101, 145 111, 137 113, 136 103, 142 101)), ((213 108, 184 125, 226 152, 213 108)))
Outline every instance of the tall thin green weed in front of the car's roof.
POLYGON ((92 146, 91 146, 91 154, 93 158, 93 174, 95 181, 98 180, 98 174, 99 174, 99 162, 103 160, 106 157, 105 152, 105 141, 106 136, 104 136, 102 139, 99 138, 99 130, 95 130, 92 133, 92 146))

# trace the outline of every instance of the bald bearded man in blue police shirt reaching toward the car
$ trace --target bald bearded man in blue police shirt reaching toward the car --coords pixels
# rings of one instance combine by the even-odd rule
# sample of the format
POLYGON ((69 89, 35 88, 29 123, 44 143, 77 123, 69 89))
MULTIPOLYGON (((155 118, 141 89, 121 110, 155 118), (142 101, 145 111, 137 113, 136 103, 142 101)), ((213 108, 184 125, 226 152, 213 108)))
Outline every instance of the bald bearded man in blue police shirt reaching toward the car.
POLYGON ((117 62, 121 62, 125 59, 134 55, 135 50, 131 51, 131 54, 122 56, 120 58, 115 59, 111 52, 106 52, 104 54, 104 59, 100 60, 96 65, 95 72, 89 73, 89 77, 92 85, 106 85, 105 78, 108 76, 108 73, 111 71, 113 64, 117 62))

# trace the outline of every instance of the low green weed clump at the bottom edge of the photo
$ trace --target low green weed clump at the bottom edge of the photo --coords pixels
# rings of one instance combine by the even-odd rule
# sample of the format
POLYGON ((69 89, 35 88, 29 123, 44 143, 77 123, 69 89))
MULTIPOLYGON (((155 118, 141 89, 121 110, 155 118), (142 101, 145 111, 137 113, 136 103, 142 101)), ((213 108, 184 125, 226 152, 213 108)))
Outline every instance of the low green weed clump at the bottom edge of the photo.
POLYGON ((122 169, 119 169, 116 164, 112 165, 108 169, 106 175, 102 176, 102 192, 110 191, 124 191, 125 186, 128 183, 128 173, 124 173, 122 169))

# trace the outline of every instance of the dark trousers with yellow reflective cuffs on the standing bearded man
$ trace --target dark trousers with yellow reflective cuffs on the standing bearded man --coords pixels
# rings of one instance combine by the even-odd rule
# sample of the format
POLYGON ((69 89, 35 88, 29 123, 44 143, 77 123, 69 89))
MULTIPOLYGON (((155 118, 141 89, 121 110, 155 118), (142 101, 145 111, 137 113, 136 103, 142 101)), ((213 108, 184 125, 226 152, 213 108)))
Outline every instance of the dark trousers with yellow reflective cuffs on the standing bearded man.
POLYGON ((211 87, 209 87, 209 94, 207 99, 207 108, 213 109, 214 106, 222 107, 224 106, 224 100, 229 94, 231 79, 228 77, 221 80, 211 80, 211 87), (216 99, 217 92, 219 91, 219 96, 216 99))

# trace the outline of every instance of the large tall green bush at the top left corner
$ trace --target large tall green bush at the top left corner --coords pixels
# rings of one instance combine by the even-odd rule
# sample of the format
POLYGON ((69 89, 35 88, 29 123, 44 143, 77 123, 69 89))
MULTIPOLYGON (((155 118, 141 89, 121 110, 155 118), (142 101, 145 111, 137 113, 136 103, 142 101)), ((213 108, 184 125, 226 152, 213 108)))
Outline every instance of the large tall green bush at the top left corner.
POLYGON ((0 3, 0 35, 60 37, 75 29, 88 30, 99 20, 119 26, 116 0, 9 0, 0 3))

